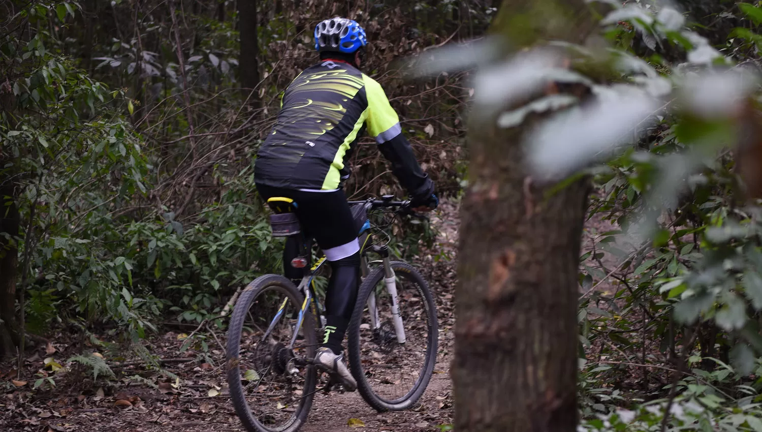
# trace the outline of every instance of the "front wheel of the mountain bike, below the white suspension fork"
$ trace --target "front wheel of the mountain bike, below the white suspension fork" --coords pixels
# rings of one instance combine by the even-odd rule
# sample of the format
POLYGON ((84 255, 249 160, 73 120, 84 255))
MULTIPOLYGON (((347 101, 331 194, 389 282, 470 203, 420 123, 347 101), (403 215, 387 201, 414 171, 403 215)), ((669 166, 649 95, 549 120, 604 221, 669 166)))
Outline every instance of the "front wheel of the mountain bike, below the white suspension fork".
POLYGON ((437 360, 437 312, 431 291, 410 264, 392 261, 391 266, 404 342, 397 328, 400 321, 395 325, 383 267, 371 271, 360 285, 347 334, 357 389, 376 411, 402 411, 415 404, 437 360))

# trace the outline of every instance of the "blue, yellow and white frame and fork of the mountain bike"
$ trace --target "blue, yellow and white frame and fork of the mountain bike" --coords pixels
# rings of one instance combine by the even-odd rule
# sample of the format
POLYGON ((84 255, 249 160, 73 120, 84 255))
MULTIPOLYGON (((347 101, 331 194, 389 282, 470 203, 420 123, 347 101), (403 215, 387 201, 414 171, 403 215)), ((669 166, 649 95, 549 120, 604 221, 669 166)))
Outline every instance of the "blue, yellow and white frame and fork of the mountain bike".
MULTIPOLYGON (((379 245, 379 246, 373 246, 370 248, 367 248, 368 240, 370 239, 370 223, 367 222, 364 226, 362 231, 360 232, 360 283, 362 280, 364 280, 368 274, 370 274, 370 265, 371 264, 381 264, 384 268, 384 286, 386 286, 386 291, 389 293, 389 296, 392 299, 392 324, 394 325, 395 334, 397 337, 397 342, 399 344, 405 343, 405 328, 402 325, 402 316, 399 312, 399 297, 397 295, 397 285, 396 285, 396 277, 394 270, 392 269, 391 259, 389 258, 389 248, 386 245, 379 245), (374 260, 374 261, 367 261, 367 252, 373 251, 376 254, 380 255, 380 260, 374 260)), ((303 235, 299 234, 300 240, 303 240, 303 235)), ((296 318, 296 324, 293 328, 293 335, 291 336, 291 341, 287 345, 287 348, 293 348, 294 344, 296 344, 296 336, 299 334, 298 329, 302 327, 302 324, 304 322, 304 316, 305 312, 307 311, 307 308, 309 306, 314 306, 313 311, 315 312, 313 315, 315 315, 315 319, 318 318, 318 306, 319 302, 317 297, 314 293, 314 280, 315 276, 319 273, 319 270, 322 268, 323 264, 325 264, 325 255, 323 255, 321 258, 319 258, 317 261, 315 261, 315 264, 310 266, 309 265, 309 258, 311 258, 311 253, 309 251, 312 250, 312 239, 308 239, 307 242, 300 242, 301 245, 306 245, 306 251, 307 251, 307 266, 304 270, 304 276, 302 277, 301 282, 299 283, 299 286, 297 286, 297 289, 301 291, 304 294, 304 301, 302 302, 302 307, 299 309, 299 314, 296 318)), ((358 284, 359 287, 359 284, 358 284)), ((280 318, 283 318, 283 312, 286 309, 286 305, 288 304, 288 299, 284 299, 283 303, 280 305, 280 309, 278 309, 277 313, 275 314, 273 320, 271 321, 270 325, 267 328, 267 331, 265 331, 264 336, 262 340, 266 340, 267 337, 271 334, 271 331, 275 328, 278 322, 280 322, 280 318)), ((373 330, 378 330, 381 328, 381 320, 379 319, 379 312, 378 307, 376 304, 376 293, 372 293, 370 297, 368 298, 367 302, 368 311, 370 312, 370 324, 373 326, 373 330)), ((322 322, 321 322, 322 326, 322 322)))

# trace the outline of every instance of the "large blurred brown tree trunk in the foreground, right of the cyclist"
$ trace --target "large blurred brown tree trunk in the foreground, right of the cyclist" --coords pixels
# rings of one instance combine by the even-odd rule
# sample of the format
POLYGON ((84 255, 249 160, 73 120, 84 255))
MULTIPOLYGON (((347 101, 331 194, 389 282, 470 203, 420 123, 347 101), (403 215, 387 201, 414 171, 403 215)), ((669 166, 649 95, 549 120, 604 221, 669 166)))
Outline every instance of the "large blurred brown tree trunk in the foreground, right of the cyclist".
MULTIPOLYGON (((584 0, 551 3, 504 0, 492 33, 521 45, 582 42, 594 28, 584 0), (517 21, 524 24, 518 30, 517 21)), ((522 142, 538 116, 501 129, 498 114, 472 114, 469 124, 451 370, 455 430, 574 432, 588 179, 554 192, 555 185, 533 181, 522 142)))

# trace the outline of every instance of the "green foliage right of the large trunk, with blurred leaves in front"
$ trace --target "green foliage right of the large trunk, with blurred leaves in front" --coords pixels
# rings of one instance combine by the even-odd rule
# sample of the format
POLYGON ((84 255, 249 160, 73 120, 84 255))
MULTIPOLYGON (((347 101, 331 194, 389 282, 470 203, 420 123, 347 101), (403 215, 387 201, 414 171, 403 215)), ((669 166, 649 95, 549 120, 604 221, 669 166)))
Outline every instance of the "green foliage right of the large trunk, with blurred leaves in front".
POLYGON ((590 217, 613 229, 581 257, 581 430, 762 429, 758 210, 739 205, 749 190, 738 178, 757 143, 736 132, 758 88, 728 67, 748 58, 760 9, 738 8, 754 26, 729 35, 724 58, 667 7, 629 4, 603 21, 629 55, 636 37, 653 39, 651 72, 626 80, 668 79, 673 91, 635 146, 586 170, 598 186, 590 217), (669 46, 687 62, 669 61, 669 46))

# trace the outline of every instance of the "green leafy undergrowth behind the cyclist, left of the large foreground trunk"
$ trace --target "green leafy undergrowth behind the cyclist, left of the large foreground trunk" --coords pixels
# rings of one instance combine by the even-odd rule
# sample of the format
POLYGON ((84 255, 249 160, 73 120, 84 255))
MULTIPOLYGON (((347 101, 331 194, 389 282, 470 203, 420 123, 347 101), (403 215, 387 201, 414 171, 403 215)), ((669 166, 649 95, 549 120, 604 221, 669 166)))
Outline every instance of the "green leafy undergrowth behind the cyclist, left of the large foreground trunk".
MULTIPOLYGON (((20 212, 16 307, 28 330, 84 319, 136 341, 162 315, 221 326, 239 286, 280 270, 251 162, 280 91, 315 59, 311 17, 330 12, 323 2, 276 3, 260 11, 263 79, 249 94, 238 88, 233 2, 14 2, 0 23, 0 182, 12 182, 20 212)), ((376 41, 368 72, 432 177, 457 178, 463 159, 450 138, 463 133, 461 77, 402 82, 391 60, 476 36, 491 12, 456 2, 362 8, 341 12, 361 17, 376 41)), ((347 190, 399 194, 364 144, 347 190)), ((427 224, 395 230, 406 236, 400 254, 432 238, 427 224)))

